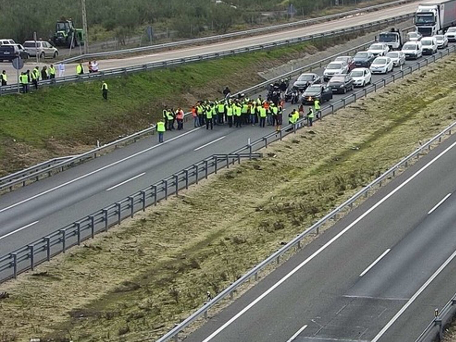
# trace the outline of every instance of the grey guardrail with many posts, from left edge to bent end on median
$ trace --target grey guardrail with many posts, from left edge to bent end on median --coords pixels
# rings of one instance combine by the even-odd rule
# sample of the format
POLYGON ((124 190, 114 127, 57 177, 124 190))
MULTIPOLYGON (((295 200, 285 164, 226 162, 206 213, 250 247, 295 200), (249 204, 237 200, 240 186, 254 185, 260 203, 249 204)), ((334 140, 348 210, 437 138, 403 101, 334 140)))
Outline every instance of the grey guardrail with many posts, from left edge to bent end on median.
POLYGON ((212 155, 182 169, 129 197, 1 257, 0 282, 11 277, 16 278, 19 273, 27 269, 33 270, 37 264, 49 261, 54 255, 65 253, 71 246, 93 238, 96 233, 107 231, 114 224, 120 224, 124 218, 132 218, 135 212, 144 211, 150 205, 157 205, 158 201, 166 200, 171 194, 177 195, 179 190, 188 189, 190 184, 198 183, 206 179, 209 174, 217 173, 224 167, 228 168, 236 161, 240 163, 241 159, 261 157, 260 153, 212 155))

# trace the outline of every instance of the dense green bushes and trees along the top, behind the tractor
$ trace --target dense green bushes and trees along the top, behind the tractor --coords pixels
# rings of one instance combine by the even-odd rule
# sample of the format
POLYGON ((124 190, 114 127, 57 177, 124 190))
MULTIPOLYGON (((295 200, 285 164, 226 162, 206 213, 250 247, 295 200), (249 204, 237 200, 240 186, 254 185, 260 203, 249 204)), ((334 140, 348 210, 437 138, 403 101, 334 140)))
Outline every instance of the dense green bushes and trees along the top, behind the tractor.
MULTIPOLYGON (((134 31, 140 26, 166 23, 181 36, 202 31, 225 32, 236 24, 255 24, 265 11, 284 11, 292 3, 297 15, 331 6, 337 0, 86 0, 88 26, 108 31, 134 31)), ((346 0, 347 2, 357 0, 346 0)), ((36 31, 47 39, 61 17, 81 27, 80 0, 0 0, 0 37, 30 39, 36 31)))

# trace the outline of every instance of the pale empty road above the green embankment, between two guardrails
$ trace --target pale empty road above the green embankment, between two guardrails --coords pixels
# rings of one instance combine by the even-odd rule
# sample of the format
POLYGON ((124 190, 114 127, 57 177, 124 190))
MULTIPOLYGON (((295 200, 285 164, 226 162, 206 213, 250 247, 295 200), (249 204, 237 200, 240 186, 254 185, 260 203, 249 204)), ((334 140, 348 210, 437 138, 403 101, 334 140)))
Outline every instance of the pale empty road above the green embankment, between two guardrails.
MULTIPOLYGON (((426 3, 437 3, 440 0, 430 0, 426 3)), ((415 12, 419 2, 413 2, 405 5, 400 5, 396 7, 386 8, 384 10, 376 12, 366 12, 355 16, 347 16, 334 21, 323 22, 315 25, 305 26, 296 28, 293 30, 279 31, 274 33, 268 33, 259 36, 238 38, 230 41, 223 41, 219 43, 210 43, 207 45, 195 46, 195 47, 186 47, 182 49, 175 49, 170 51, 156 52, 148 55, 127 57, 127 58, 118 58, 118 59, 105 59, 99 61, 100 70, 108 70, 118 67, 129 67, 135 65, 141 65, 150 62, 161 62, 175 58, 184 58, 192 57, 206 53, 212 52, 221 52, 225 50, 232 50, 242 47, 249 47, 253 45, 265 44, 274 41, 280 41, 284 39, 306 36, 309 34, 322 33, 327 31, 338 30, 342 28, 347 28, 355 25, 367 24, 372 21, 377 21, 381 19, 387 19, 393 16, 398 16, 402 14, 407 14, 415 12)), ((49 64, 49 63, 47 63, 49 64)), ((42 63, 38 64, 40 66, 44 65, 42 63)), ((24 70, 32 69, 36 66, 36 62, 33 62, 31 59, 30 62, 26 63, 24 70)), ((86 67, 86 66, 84 66, 86 67)), ((16 70, 12 68, 10 63, 4 63, 1 65, 2 70, 5 69, 8 76, 10 76, 10 82, 16 80, 16 70)), ((67 64, 65 75, 72 75, 76 73, 76 64, 67 64)), ((16 81, 14 81, 16 83, 16 81)))

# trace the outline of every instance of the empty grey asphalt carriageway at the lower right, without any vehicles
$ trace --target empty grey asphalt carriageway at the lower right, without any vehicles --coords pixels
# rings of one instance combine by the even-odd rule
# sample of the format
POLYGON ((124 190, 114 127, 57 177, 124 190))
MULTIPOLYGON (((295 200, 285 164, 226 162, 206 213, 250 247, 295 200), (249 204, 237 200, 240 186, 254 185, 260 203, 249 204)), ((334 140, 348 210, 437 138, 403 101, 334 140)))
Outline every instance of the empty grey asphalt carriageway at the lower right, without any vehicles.
POLYGON ((455 291, 455 160, 453 135, 185 341, 415 341, 455 291))

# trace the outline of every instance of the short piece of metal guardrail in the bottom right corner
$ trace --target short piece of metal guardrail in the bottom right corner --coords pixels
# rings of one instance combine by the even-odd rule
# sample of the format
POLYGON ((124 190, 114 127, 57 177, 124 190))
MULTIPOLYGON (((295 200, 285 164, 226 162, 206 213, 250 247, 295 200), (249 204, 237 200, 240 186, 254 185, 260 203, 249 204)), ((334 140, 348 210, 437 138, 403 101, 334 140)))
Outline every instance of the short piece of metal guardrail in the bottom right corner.
POLYGON ((443 341, 443 329, 451 322, 456 314, 456 293, 440 311, 436 309, 434 314, 434 319, 430 321, 428 326, 426 326, 425 330, 420 334, 415 342, 443 341))

